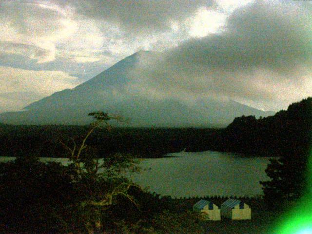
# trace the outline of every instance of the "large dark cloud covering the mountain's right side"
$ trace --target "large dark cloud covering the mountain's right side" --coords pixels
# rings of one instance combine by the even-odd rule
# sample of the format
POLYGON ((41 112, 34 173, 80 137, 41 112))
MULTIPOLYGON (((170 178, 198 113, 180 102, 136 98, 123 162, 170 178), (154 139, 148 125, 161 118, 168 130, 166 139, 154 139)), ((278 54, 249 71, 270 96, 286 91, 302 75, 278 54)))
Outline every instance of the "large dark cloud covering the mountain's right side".
POLYGON ((164 95, 212 95, 279 109, 278 103, 312 94, 304 87, 311 84, 311 28, 304 5, 257 1, 234 11, 222 33, 181 43, 137 72, 164 95))

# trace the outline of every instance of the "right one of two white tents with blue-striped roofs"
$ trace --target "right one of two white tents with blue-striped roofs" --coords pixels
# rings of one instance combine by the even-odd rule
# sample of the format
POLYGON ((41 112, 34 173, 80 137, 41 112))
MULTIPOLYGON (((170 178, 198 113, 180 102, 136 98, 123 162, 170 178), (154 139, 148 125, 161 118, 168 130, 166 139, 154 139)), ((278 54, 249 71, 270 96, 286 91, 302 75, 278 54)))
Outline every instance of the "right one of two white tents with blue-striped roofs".
POLYGON ((230 219, 251 219, 252 210, 240 200, 228 199, 221 204, 221 215, 230 219))

